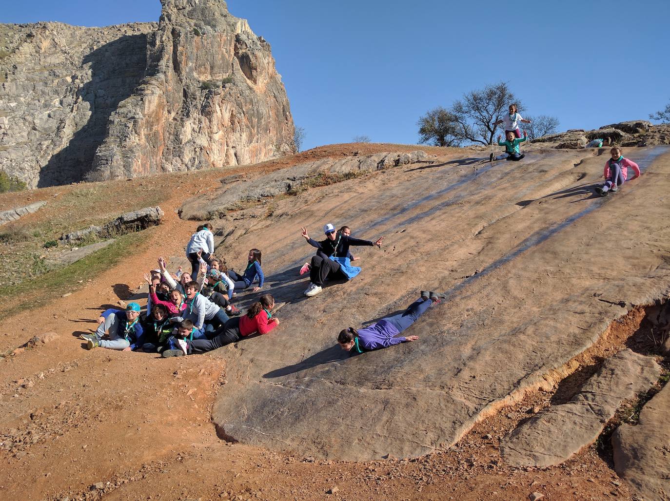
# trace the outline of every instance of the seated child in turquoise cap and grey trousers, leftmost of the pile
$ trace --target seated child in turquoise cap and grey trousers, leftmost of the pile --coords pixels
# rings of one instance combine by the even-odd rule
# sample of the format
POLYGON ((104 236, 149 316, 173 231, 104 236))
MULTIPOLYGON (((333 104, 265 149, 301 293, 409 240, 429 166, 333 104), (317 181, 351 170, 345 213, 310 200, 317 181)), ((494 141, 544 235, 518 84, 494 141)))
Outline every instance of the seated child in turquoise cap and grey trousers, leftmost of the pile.
POLYGON ((124 352, 142 348, 144 331, 139 321, 139 304, 129 303, 125 311, 107 309, 100 317, 105 321, 98 326, 95 334, 81 335, 81 338, 86 340, 86 350, 92 350, 98 346, 124 352), (105 332, 109 335, 109 341, 103 340, 105 332))

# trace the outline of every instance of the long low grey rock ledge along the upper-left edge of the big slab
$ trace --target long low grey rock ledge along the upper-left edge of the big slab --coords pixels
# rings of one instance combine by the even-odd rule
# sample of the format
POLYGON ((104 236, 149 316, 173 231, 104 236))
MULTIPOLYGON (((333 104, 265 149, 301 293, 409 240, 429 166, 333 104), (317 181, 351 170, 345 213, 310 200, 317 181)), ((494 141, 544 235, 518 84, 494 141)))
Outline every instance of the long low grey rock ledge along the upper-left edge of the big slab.
POLYGON ((220 190, 186 202, 180 209, 180 216, 184 219, 207 220, 240 208, 245 202, 306 190, 310 183, 327 185, 346 180, 347 177, 428 159, 429 155, 420 150, 411 153, 375 153, 343 159, 320 159, 279 169, 249 181, 239 175, 226 177, 222 180, 224 187, 220 190))

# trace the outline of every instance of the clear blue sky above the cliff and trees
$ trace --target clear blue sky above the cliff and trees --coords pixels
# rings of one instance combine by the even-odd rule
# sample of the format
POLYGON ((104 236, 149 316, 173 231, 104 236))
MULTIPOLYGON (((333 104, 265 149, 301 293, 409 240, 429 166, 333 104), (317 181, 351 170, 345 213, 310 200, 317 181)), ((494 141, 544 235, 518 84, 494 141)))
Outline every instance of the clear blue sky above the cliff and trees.
MULTIPOLYGON (((7 4, 5 23, 160 15, 158 0, 7 4)), ((228 10, 270 42, 304 149, 356 135, 416 143, 427 110, 500 81, 561 130, 647 119, 670 101, 667 0, 230 0, 228 10)))

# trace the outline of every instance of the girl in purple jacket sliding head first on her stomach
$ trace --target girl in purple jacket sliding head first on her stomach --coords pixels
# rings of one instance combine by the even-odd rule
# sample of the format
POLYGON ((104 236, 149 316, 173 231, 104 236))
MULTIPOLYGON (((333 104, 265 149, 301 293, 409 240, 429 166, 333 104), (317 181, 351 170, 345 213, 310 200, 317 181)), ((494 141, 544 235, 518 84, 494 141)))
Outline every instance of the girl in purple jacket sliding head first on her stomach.
POLYGON ((433 304, 440 303, 446 295, 433 291, 421 291, 421 297, 411 303, 402 313, 385 317, 362 329, 352 327, 340 331, 337 342, 342 350, 352 353, 379 350, 394 344, 416 341, 419 336, 401 336, 398 334, 409 328, 433 304))

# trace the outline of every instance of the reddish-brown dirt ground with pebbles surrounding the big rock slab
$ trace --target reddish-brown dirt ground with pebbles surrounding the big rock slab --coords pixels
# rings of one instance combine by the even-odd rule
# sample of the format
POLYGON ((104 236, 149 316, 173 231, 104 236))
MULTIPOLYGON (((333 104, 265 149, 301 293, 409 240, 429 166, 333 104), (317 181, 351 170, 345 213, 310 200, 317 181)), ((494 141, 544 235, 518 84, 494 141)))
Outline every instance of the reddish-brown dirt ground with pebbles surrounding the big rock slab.
MULTIPOLYGON (((269 171, 351 151, 372 153, 378 147, 331 145, 244 170, 269 171)), ((444 158, 452 153, 421 149, 444 158)), ((578 360, 574 378, 502 409, 446 453, 365 463, 320 461, 219 439, 210 421, 216 392, 226 384, 225 362, 219 358, 163 360, 155 354, 84 350, 77 336, 95 326, 100 309, 127 299, 157 255, 182 253, 198 223, 180 220, 176 209, 237 170, 202 173, 197 184, 183 183, 182 175, 142 180, 162 184, 170 196, 161 202, 165 222, 146 230, 147 241, 137 253, 83 289, 43 307, 16 311, 3 322, 0 352, 7 356, 0 358, 0 498, 523 500, 533 492, 546 500, 632 498, 614 473, 606 446, 593 445, 559 467, 535 470, 505 466, 498 443, 529 411, 569 399, 580 375, 588 374, 599 357, 634 340, 649 343, 641 311, 630 313, 578 360), (165 234, 173 238, 166 241, 165 234), (55 332, 55 340, 26 344, 46 332, 55 332)), ((73 189, 5 194, 0 209, 73 189)), ((48 216, 38 212, 29 217, 48 216)))

